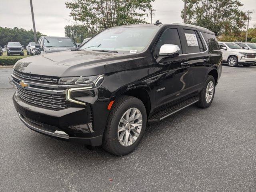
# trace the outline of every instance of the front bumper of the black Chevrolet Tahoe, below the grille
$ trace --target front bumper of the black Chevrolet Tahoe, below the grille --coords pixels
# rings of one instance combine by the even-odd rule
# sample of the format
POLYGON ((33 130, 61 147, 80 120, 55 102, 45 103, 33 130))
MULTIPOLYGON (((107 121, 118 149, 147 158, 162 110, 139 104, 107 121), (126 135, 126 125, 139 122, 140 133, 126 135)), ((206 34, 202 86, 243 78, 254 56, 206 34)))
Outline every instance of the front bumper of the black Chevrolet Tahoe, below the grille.
POLYGON ((64 141, 98 146, 102 134, 97 134, 87 118, 86 108, 70 107, 50 110, 32 106, 15 93, 13 103, 20 120, 30 129, 64 141))

